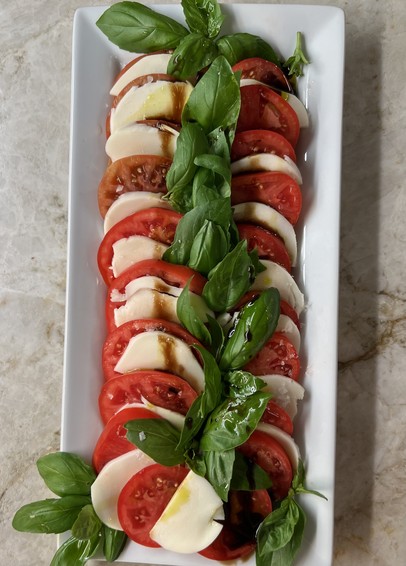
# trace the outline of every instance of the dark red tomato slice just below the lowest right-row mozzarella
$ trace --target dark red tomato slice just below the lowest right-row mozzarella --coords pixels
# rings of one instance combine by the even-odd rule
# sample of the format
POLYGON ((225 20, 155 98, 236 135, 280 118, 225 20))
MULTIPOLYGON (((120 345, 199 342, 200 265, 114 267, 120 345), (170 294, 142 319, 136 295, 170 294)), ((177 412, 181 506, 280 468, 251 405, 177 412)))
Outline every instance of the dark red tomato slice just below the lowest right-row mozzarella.
POLYGON ((283 499, 292 485, 292 464, 282 446, 269 434, 255 430, 247 442, 238 447, 243 456, 261 466, 272 480, 271 493, 283 499))

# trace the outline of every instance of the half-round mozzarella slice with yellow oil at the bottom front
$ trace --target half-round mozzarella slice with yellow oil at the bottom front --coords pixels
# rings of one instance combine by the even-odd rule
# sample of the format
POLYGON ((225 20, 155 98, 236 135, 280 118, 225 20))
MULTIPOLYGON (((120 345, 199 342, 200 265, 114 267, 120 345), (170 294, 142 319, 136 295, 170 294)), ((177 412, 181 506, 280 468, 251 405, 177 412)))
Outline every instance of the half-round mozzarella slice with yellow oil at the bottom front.
POLYGON ((179 553, 199 552, 220 534, 223 502, 210 483, 190 471, 150 531, 163 548, 179 553))

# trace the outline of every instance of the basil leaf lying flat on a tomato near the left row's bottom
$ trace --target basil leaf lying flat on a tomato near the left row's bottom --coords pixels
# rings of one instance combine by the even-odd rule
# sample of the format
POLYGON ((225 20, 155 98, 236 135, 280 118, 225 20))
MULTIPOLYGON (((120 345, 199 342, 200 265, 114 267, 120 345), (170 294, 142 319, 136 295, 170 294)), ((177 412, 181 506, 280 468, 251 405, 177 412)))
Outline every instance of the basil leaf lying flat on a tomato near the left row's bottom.
POLYGON ((164 419, 135 419, 124 425, 127 438, 137 448, 163 466, 176 466, 184 462, 178 450, 180 432, 164 419))

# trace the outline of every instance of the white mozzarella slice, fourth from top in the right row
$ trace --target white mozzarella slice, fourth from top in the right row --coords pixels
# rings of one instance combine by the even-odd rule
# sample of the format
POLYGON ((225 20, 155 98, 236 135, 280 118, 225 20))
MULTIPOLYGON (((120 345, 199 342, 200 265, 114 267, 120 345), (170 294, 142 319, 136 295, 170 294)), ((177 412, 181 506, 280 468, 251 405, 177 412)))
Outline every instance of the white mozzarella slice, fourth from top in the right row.
POLYGON ((265 271, 259 273, 251 290, 265 291, 269 287, 276 287, 284 301, 287 301, 300 314, 304 308, 304 295, 296 285, 293 277, 280 265, 273 261, 262 260, 265 271))

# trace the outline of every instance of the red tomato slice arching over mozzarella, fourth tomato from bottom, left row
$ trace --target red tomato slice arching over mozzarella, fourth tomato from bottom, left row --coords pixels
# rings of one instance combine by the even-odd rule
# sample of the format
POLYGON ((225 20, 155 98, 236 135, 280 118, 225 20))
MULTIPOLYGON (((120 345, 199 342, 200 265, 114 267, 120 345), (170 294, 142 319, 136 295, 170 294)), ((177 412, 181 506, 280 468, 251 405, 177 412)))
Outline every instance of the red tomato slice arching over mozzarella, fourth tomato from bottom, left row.
POLYGON ((192 344, 199 344, 198 340, 196 340, 194 336, 189 334, 187 330, 175 322, 168 322, 167 320, 161 320, 158 318, 130 320, 116 328, 113 332, 110 332, 104 343, 102 366, 105 379, 112 379, 122 375, 114 371, 114 368, 133 336, 141 334, 142 332, 154 331, 167 332, 176 338, 180 338, 189 346, 192 344))

